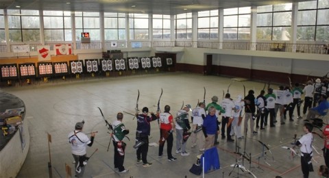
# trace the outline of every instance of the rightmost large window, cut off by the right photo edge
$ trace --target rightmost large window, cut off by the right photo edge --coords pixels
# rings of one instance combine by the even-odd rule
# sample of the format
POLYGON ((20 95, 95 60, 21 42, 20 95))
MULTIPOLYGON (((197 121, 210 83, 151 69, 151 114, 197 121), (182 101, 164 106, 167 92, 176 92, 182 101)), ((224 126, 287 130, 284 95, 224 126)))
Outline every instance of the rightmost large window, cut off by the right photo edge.
POLYGON ((329 0, 298 3, 297 40, 329 41, 329 0))

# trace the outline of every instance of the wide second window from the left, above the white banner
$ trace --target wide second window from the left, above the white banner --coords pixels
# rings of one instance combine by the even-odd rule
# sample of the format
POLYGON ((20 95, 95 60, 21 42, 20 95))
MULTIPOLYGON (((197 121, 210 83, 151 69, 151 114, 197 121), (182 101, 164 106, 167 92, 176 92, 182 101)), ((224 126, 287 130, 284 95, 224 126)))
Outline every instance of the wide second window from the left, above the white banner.
POLYGON ((38 10, 7 10, 10 42, 40 41, 38 10))

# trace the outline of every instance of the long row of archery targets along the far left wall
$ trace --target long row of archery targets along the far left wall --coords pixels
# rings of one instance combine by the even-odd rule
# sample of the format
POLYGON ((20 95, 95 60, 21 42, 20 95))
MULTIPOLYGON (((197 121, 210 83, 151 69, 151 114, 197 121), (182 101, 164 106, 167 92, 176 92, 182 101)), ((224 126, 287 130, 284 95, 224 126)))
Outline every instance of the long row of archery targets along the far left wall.
POLYGON ((47 81, 50 77, 62 77, 65 79, 68 75, 75 75, 79 78, 82 74, 103 74, 110 76, 110 73, 124 71, 147 71, 160 68, 170 68, 173 66, 171 58, 162 59, 160 57, 150 58, 122 58, 122 59, 88 59, 88 60, 70 60, 69 62, 37 62, 23 64, 0 64, 1 82, 7 82, 11 85, 15 80, 33 80, 36 78, 47 81))

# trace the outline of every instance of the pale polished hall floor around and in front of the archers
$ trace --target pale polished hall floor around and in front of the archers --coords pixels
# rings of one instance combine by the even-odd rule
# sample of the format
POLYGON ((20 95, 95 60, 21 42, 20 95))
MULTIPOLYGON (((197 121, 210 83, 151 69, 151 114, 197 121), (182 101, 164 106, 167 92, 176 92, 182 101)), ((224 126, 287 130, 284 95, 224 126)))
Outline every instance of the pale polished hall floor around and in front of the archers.
MULTIPOLYGON (((239 79, 238 79, 239 80, 239 79)), ((263 89, 264 84, 255 81, 236 81, 231 78, 204 76, 191 73, 156 73, 147 75, 108 77, 108 78, 86 78, 68 79, 66 81, 43 81, 31 86, 15 86, 2 88, 5 92, 15 94, 21 98, 26 105, 25 122, 29 123, 31 144, 29 153, 17 177, 66 177, 65 164, 69 164, 73 171, 73 157, 67 140, 67 134, 74 129, 75 123, 85 120, 84 132, 98 131, 93 147, 88 147, 90 155, 98 151, 90 158, 86 166, 85 177, 197 177, 189 173, 189 168, 196 162, 199 150, 191 148, 188 140, 186 149, 191 155, 181 156, 175 162, 169 162, 165 155, 158 157, 158 147, 149 147, 148 162, 152 166, 143 167, 136 163, 136 151, 133 149, 134 133, 136 131, 136 119, 124 113, 123 123, 130 129, 130 141, 127 142, 125 152, 125 168, 129 173, 117 173, 113 165, 113 145, 108 148, 110 137, 107 133, 105 122, 97 107, 103 110, 107 120, 112 123, 117 112, 134 113, 138 90, 140 97, 138 106, 149 107, 150 111, 156 111, 161 88, 163 94, 160 107, 171 106, 171 113, 175 114, 182 105, 197 105, 197 101, 204 99, 204 87, 206 88, 206 103, 210 102, 213 95, 217 95, 221 101, 223 90, 225 92, 230 86, 230 94, 233 99, 241 94, 243 96, 243 85, 246 91, 255 90, 255 96, 263 89), (48 168, 49 149, 47 133, 51 135, 51 171, 48 168), (51 175, 49 175, 51 174, 51 175)), ((272 85, 273 88, 276 88, 272 85)), ((219 102, 220 102, 219 101, 219 102)), ((297 116, 297 114, 295 114, 297 116)), ((241 169, 233 168, 231 164, 240 164, 251 170, 256 177, 302 177, 300 168, 300 157, 292 156, 291 151, 282 149, 282 146, 292 147, 294 136, 300 138, 303 135, 303 121, 286 121, 285 125, 266 127, 258 130, 257 135, 247 133, 246 139, 236 142, 226 142, 219 138, 217 150, 221 163, 221 169, 205 175, 205 177, 253 177, 241 169), (260 144, 263 142, 269 147, 267 150, 260 144), (251 155, 251 164, 247 160, 241 160, 235 154, 236 148, 240 153, 251 155), (263 150, 265 150, 263 152, 263 150)), ((243 129, 244 130, 244 129, 243 129)), ((315 129, 315 131, 318 131, 315 129)), ((243 131, 244 132, 244 131, 243 131)), ((318 131, 319 132, 319 131, 318 131)), ((245 133, 244 133, 245 134, 245 133)), ((175 136, 175 135, 174 135, 175 136)), ((324 159, 321 154, 323 141, 314 136, 313 166, 317 170, 324 159)), ((159 131, 157 122, 151 123, 150 142, 157 143, 159 131)), ((174 139, 175 142, 175 139, 174 139)), ((74 175, 73 175, 74 176, 74 175)), ((201 177, 201 176, 199 176, 201 177)), ((319 177, 317 171, 310 173, 310 177, 319 177)))

